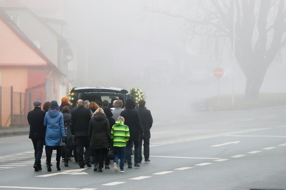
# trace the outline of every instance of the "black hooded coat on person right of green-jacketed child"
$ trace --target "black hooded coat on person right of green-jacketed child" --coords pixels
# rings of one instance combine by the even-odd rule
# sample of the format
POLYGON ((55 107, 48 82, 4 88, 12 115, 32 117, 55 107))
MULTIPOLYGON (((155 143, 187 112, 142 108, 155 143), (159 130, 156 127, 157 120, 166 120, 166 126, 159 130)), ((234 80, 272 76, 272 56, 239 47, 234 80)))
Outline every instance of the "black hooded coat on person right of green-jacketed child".
POLYGON ((125 110, 120 115, 124 117, 124 124, 129 127, 130 138, 129 141, 139 141, 140 136, 144 134, 139 112, 135 110, 135 102, 132 99, 127 99, 125 103, 125 110))

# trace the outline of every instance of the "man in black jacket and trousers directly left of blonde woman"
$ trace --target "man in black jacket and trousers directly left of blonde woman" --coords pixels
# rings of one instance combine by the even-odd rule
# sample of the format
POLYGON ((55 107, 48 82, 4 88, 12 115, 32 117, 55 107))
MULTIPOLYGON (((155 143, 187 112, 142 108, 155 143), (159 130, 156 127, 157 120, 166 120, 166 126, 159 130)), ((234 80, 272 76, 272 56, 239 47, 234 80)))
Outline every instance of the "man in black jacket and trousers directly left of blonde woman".
POLYGON ((92 117, 90 109, 85 108, 85 102, 83 100, 77 101, 77 108, 71 110, 70 119, 70 131, 75 137, 76 155, 77 162, 80 168, 84 168, 85 164, 87 167, 90 165, 90 145, 88 139, 88 127, 89 121, 92 117), (83 160, 83 150, 85 147, 85 160, 83 160))

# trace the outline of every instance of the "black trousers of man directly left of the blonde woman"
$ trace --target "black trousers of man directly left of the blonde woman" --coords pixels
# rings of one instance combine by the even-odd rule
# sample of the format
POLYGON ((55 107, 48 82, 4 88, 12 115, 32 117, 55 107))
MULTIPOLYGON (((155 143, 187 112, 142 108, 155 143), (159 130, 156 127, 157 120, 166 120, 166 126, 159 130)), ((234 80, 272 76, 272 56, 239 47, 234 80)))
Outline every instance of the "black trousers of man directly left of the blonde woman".
POLYGON ((76 158, 78 165, 85 166, 85 162, 90 162, 90 145, 88 136, 75 137, 76 158), (85 160, 83 160, 83 149, 85 148, 85 160))

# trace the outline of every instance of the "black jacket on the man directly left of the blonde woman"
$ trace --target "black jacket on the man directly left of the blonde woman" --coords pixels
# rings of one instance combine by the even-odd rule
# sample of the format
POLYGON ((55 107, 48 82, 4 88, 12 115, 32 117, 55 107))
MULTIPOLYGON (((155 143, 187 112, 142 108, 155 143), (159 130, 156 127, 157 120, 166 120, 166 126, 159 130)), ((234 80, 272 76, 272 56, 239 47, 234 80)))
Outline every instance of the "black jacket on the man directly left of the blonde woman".
POLYGON ((72 109, 70 115, 70 131, 72 135, 75 137, 88 136, 89 121, 92 117, 90 109, 80 106, 72 109))

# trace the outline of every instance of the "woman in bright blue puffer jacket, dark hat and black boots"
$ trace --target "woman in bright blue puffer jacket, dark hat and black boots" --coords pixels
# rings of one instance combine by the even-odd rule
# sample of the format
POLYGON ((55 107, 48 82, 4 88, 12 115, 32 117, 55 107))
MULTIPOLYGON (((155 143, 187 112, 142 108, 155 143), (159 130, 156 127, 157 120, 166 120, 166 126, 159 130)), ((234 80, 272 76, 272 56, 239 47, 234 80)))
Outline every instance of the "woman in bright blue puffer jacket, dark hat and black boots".
POLYGON ((51 157, 53 150, 57 151, 56 161, 57 161, 57 170, 60 168, 61 160, 61 149, 60 141, 66 137, 65 128, 63 124, 63 114, 59 110, 58 102, 53 100, 49 111, 46 112, 44 119, 44 126, 46 126, 46 157, 47 157, 47 168, 48 172, 51 172, 51 157))

